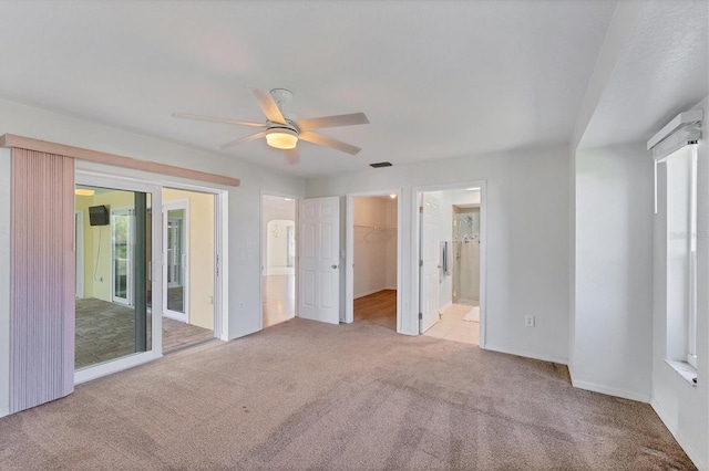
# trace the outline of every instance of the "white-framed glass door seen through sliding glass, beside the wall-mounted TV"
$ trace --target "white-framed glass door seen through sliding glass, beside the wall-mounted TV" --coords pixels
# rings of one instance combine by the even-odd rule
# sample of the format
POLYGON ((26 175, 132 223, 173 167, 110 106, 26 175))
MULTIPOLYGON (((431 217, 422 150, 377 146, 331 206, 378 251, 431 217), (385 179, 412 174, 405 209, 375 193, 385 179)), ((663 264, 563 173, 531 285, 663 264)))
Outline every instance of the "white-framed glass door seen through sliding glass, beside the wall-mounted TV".
POLYGON ((132 263, 134 230, 133 209, 111 211, 111 266, 113 274, 113 302, 133 305, 132 263))

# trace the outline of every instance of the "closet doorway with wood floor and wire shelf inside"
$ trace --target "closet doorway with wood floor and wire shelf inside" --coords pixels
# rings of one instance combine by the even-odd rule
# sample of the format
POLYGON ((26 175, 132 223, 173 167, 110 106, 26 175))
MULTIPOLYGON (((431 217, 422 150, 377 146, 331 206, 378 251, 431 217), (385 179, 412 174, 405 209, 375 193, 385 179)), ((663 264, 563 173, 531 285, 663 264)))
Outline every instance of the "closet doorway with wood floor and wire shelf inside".
POLYGON ((399 190, 347 198, 345 322, 400 331, 399 190))

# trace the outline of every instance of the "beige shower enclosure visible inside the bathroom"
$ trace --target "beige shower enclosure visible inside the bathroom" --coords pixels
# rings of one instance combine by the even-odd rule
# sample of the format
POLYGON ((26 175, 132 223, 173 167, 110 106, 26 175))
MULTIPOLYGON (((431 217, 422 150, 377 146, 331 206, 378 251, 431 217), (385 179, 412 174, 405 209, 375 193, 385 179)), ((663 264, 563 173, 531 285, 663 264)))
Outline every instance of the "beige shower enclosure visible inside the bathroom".
POLYGON ((480 208, 453 206, 453 303, 480 303, 480 208))

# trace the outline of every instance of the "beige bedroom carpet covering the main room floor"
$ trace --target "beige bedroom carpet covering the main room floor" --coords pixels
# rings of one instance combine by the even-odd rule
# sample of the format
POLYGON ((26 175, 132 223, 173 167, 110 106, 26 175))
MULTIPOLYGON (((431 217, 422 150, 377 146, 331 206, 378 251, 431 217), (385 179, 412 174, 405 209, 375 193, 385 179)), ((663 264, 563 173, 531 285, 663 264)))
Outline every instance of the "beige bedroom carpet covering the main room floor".
POLYGON ((693 469, 648 405, 565 367, 294 318, 0 419, 2 469, 693 469))

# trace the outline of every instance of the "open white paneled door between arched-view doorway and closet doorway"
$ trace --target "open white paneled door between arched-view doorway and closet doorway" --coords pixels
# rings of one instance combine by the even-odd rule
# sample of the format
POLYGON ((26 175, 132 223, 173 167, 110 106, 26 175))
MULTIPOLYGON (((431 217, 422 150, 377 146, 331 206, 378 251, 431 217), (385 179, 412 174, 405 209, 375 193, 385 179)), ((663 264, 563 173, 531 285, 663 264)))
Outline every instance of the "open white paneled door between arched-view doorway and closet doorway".
POLYGON ((299 310, 312 321, 340 322, 340 199, 300 200, 299 310))

